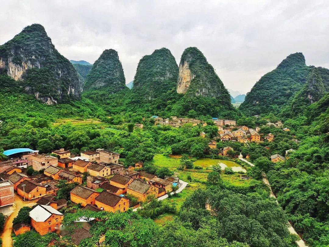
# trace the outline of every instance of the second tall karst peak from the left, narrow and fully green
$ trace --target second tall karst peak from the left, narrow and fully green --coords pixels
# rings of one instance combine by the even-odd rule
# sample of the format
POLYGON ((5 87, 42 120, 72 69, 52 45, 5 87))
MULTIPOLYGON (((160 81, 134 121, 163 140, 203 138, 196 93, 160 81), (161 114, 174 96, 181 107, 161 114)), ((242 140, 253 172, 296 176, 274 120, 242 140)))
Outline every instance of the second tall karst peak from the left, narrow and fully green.
POLYGON ((118 53, 113 49, 103 51, 87 75, 84 95, 100 100, 98 97, 106 97, 125 88, 126 79, 118 53))

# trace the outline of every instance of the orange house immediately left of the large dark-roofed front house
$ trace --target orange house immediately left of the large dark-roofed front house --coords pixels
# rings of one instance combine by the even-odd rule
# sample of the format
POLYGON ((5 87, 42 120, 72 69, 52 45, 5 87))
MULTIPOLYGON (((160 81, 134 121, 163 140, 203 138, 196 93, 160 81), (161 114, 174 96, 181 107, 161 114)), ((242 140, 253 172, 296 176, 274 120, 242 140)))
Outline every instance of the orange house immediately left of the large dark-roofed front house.
POLYGON ((71 201, 82 206, 86 206, 87 204, 95 205, 95 198, 100 193, 96 190, 90 189, 88 187, 78 185, 70 192, 71 201))

